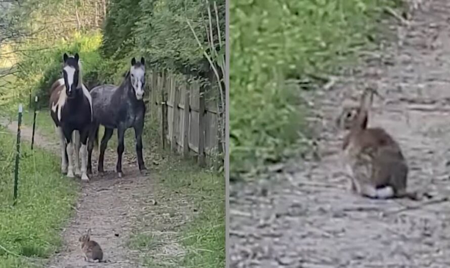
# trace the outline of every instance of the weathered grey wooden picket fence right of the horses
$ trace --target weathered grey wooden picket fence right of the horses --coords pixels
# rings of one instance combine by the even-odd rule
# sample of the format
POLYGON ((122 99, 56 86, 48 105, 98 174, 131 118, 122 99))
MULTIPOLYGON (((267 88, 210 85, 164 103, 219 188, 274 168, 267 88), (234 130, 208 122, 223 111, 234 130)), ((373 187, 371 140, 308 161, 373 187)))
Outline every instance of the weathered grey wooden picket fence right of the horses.
POLYGON ((167 71, 154 71, 149 78, 148 109, 160 123, 163 148, 185 157, 195 155, 199 165, 205 165, 221 151, 214 88, 167 71))

